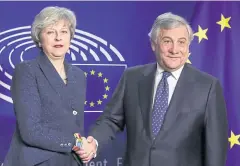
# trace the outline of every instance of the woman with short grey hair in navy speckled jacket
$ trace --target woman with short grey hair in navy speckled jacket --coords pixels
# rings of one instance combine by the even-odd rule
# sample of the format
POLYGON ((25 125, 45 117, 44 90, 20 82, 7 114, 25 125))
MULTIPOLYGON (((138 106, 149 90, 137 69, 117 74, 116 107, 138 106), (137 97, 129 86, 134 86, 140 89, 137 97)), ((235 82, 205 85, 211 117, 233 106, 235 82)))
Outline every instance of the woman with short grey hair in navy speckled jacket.
POLYGON ((41 50, 16 66, 12 99, 16 130, 4 166, 77 166, 74 133, 84 131, 86 80, 64 61, 74 37, 76 17, 66 8, 46 7, 32 24, 41 50))

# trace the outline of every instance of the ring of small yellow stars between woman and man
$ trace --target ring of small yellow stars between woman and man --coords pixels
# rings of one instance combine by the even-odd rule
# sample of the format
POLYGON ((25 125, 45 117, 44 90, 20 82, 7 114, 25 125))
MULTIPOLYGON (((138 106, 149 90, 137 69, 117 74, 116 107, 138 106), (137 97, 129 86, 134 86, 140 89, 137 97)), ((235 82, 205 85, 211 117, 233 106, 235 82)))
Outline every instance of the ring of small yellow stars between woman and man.
POLYGON ((98 78, 102 79, 102 81, 104 83, 105 93, 102 95, 102 99, 98 99, 98 101, 95 101, 95 102, 94 101, 91 101, 91 102, 85 101, 84 105, 87 105, 88 103, 89 103, 90 107, 94 107, 95 104, 101 105, 103 100, 108 98, 107 92, 109 92, 109 90, 110 90, 110 87, 108 86, 108 78, 103 77, 102 72, 97 73, 95 70, 91 70, 89 73, 84 72, 85 77, 87 77, 88 74, 90 74, 91 76, 97 76, 98 78))

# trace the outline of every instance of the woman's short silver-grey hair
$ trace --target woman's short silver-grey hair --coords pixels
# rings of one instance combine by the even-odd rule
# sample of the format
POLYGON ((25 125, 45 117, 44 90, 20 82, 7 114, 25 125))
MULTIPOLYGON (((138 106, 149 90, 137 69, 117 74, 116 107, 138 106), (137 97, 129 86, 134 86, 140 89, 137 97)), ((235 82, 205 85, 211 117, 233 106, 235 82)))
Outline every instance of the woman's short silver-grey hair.
POLYGON ((31 36, 37 47, 39 47, 39 43, 41 43, 40 34, 42 30, 49 25, 54 25, 60 20, 68 23, 71 39, 74 37, 77 24, 74 12, 64 7, 49 6, 42 9, 40 13, 35 16, 31 27, 31 36))

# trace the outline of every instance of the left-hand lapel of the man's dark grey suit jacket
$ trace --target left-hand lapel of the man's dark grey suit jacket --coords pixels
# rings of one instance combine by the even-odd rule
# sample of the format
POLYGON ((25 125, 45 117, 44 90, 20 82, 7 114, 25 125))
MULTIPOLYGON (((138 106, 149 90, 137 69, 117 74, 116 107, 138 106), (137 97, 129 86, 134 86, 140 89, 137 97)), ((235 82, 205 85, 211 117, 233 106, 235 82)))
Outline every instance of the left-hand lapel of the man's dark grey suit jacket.
POLYGON ((151 138, 151 127, 150 127, 150 110, 152 104, 154 78, 156 72, 156 64, 149 66, 144 72, 143 77, 139 81, 139 103, 142 112, 143 125, 146 129, 147 135, 151 138))

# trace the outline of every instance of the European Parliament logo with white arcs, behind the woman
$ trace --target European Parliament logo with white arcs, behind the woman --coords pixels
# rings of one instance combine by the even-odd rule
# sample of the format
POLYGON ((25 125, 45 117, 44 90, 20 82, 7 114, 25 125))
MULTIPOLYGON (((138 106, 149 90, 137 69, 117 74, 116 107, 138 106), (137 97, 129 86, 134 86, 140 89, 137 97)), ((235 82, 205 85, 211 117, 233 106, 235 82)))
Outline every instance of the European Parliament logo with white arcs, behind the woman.
MULTIPOLYGON (((39 55, 31 39, 31 26, 0 32, 0 100, 13 103, 10 93, 15 65, 39 55)), ((123 71, 122 54, 101 37, 76 29, 66 59, 80 67, 87 78, 85 112, 102 112, 123 71)))

